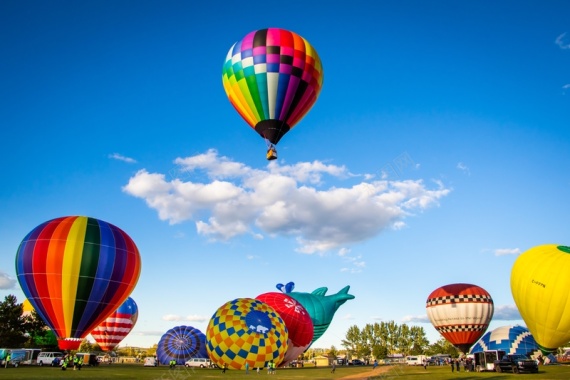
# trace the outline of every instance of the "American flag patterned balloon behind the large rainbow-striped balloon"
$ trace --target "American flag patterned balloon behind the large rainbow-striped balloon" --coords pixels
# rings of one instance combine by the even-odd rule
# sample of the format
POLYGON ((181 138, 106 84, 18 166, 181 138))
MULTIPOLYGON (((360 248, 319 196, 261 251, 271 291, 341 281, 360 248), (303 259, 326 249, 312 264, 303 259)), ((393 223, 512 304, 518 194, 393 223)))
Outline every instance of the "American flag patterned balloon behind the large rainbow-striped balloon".
POLYGON ((103 323, 91 331, 91 336, 99 344, 101 350, 112 351, 129 335, 138 317, 139 308, 136 302, 128 297, 103 323))

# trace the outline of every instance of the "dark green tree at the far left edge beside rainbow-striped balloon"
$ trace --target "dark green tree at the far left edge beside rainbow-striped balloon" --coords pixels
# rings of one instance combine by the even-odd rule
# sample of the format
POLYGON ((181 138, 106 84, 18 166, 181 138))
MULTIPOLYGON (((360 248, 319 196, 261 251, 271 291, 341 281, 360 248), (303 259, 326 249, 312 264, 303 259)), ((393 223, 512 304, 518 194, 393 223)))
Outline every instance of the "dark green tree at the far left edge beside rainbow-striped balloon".
POLYGON ((22 347, 29 339, 26 335, 27 319, 22 312, 22 304, 14 295, 7 295, 4 302, 0 302, 0 346, 22 347))

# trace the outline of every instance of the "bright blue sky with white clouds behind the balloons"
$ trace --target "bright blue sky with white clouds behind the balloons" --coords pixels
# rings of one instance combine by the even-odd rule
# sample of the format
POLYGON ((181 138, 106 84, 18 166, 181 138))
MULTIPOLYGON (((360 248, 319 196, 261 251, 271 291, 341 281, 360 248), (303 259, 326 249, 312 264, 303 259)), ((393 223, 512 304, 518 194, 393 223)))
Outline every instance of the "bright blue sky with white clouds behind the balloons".
POLYGON ((524 324, 517 255, 568 245, 568 1, 0 3, 0 296, 38 224, 113 223, 137 243, 139 319, 122 345, 205 331, 238 297, 350 285, 314 347, 350 326, 423 326, 436 288, 524 324), (222 64, 266 27, 318 51, 321 95, 265 160, 222 64))

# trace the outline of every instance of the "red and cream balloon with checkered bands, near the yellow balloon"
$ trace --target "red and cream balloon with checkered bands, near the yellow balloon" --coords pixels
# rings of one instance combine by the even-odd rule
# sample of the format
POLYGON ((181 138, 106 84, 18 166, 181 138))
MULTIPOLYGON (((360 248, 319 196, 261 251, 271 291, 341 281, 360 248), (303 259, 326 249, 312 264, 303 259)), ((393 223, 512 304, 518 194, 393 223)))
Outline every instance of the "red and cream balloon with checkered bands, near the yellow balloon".
POLYGON ((428 296, 426 311, 436 330, 467 353, 489 327, 494 305, 491 295, 477 285, 450 284, 428 296))

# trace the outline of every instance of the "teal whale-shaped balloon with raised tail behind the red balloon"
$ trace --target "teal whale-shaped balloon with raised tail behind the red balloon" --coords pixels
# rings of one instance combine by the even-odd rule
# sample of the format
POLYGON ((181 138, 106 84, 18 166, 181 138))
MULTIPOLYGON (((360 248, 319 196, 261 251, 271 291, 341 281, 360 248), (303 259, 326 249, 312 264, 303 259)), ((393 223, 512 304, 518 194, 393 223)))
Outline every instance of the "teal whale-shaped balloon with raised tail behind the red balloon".
POLYGON ((312 293, 291 292, 290 297, 297 300, 311 316, 314 326, 314 335, 311 344, 319 339, 329 328, 334 313, 346 301, 354 299, 352 294, 348 294, 350 286, 345 286, 336 294, 327 296, 328 288, 318 288, 312 293))

